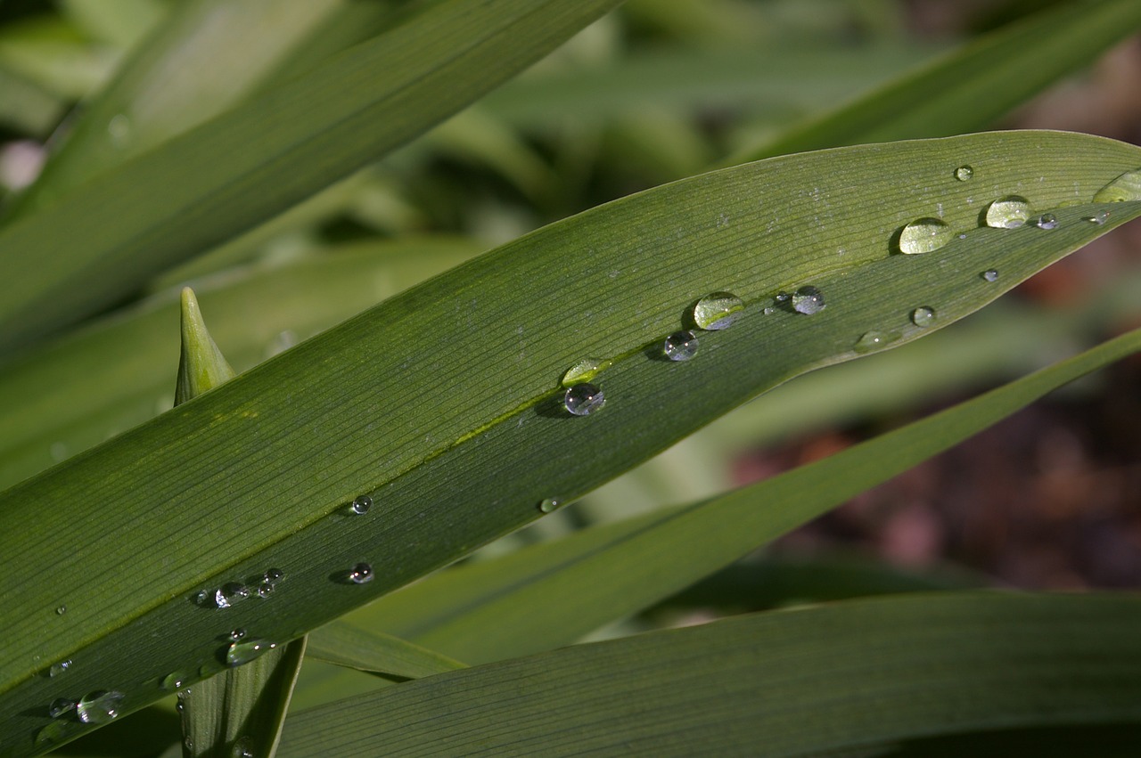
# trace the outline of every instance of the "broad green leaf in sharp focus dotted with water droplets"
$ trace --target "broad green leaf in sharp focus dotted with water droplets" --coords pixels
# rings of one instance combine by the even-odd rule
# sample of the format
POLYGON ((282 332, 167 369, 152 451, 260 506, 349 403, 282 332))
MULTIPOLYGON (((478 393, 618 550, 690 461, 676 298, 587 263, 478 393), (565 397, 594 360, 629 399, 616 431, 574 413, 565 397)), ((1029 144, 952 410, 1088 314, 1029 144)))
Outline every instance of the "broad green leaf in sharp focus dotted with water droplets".
POLYGON ((858 356, 869 331, 905 342, 971 312, 1141 214, 1089 203, 1139 164, 1141 148, 1112 140, 1004 132, 667 185, 504 245, 9 489, 0 749, 27 744, 67 693, 118 690, 127 712, 170 670, 211 674, 219 625, 300 636, 537 517, 544 498, 574 499, 758 392, 858 356), (953 176, 964 162, 966 182, 953 176), (1057 227, 979 227, 1019 191, 1057 227), (892 253, 904 225, 940 212, 964 238, 892 253), (996 280, 980 276, 992 268, 996 280), (824 310, 763 312, 803 285, 824 310), (744 317, 702 334, 696 359, 665 360, 661 340, 720 290, 744 298, 744 317), (912 323, 919 307, 937 311, 932 327, 912 323), (570 417, 559 380, 584 356, 615 361, 599 380, 609 400, 570 417), (362 494, 374 505, 351 515, 362 494), (371 581, 348 580, 358 562, 371 581), (195 602, 268 567, 285 572, 272 600, 195 602), (64 658, 66 677, 38 676, 64 658))

